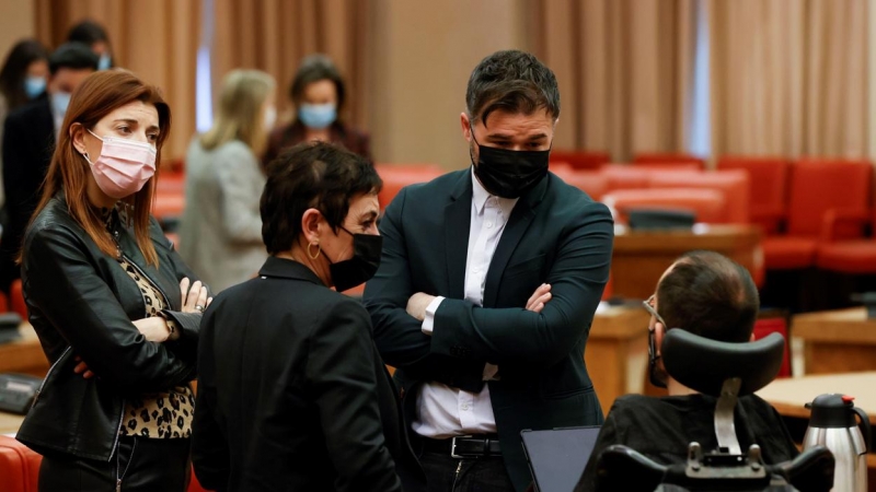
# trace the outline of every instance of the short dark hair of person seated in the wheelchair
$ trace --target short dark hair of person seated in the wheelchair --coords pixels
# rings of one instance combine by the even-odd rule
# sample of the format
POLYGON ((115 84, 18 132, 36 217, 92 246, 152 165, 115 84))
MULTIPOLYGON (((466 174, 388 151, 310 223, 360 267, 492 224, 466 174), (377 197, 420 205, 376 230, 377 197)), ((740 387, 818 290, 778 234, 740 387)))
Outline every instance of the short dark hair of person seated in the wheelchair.
POLYGON ((712 340, 749 341, 759 307, 748 270, 714 251, 682 255, 657 285, 657 311, 667 329, 712 340))

